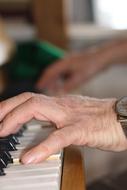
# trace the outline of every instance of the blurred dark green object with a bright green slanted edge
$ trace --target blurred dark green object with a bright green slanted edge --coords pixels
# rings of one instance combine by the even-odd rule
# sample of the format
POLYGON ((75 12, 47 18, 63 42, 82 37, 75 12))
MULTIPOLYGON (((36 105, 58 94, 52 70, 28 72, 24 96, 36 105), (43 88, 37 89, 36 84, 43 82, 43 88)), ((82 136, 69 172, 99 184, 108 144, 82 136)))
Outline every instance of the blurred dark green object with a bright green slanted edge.
POLYGON ((11 80, 36 81, 40 74, 65 52, 48 42, 29 41, 17 44, 17 50, 8 64, 11 80))

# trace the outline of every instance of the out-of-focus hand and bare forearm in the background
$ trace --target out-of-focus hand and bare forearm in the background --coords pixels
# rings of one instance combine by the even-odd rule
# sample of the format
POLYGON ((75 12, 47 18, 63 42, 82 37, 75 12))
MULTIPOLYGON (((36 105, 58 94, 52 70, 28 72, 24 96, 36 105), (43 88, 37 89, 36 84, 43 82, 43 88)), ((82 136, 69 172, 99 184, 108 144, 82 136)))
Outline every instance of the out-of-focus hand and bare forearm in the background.
POLYGON ((64 94, 112 63, 127 63, 127 40, 118 39, 85 52, 75 53, 51 65, 39 78, 36 87, 48 94, 64 94))

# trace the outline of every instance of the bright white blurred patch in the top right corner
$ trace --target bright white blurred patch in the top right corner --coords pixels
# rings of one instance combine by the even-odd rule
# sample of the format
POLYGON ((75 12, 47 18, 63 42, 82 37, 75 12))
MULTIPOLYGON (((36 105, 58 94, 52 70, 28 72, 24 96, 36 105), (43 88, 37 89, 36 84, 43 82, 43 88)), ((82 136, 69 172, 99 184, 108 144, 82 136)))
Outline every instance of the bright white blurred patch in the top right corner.
POLYGON ((126 0, 94 0, 93 9, 97 24, 114 29, 127 29, 126 0))

